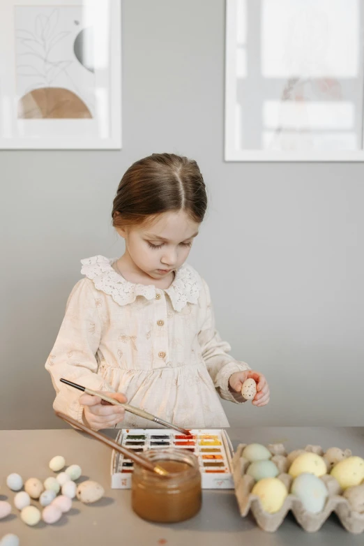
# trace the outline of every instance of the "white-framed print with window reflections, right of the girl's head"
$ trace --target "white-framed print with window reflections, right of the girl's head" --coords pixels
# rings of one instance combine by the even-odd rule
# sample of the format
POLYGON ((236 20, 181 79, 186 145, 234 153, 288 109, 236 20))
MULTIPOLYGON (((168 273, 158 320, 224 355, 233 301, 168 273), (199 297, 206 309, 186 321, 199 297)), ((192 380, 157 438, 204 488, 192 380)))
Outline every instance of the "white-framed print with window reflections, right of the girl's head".
POLYGON ((364 161, 363 0, 226 0, 225 161, 364 161))

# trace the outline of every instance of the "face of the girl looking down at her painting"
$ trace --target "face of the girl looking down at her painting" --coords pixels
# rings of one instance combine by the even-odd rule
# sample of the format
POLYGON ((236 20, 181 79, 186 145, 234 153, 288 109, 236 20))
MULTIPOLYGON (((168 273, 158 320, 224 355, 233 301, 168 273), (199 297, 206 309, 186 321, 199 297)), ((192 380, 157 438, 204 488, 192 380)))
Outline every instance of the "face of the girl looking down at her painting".
POLYGON ((162 279, 187 260, 199 223, 184 211, 163 212, 148 227, 118 229, 132 261, 152 279, 162 279))

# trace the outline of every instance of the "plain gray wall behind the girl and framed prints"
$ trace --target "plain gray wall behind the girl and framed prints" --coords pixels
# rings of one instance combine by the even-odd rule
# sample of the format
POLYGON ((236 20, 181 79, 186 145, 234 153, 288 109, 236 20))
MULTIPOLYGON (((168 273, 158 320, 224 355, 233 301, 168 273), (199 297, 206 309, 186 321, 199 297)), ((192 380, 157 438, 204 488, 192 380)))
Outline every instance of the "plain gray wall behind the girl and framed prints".
POLYGON ((231 425, 363 425, 363 164, 224 163, 223 0, 123 1, 123 149, 0 152, 0 428, 63 427, 44 369, 79 260, 120 256, 116 186, 152 152, 196 158, 211 193, 190 263, 271 404, 231 425))

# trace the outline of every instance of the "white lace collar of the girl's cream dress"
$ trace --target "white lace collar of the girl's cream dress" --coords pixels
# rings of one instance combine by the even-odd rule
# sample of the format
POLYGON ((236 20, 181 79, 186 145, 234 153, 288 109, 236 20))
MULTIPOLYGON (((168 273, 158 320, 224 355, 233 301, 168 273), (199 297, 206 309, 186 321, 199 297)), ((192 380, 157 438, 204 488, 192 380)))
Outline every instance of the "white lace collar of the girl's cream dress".
MULTIPOLYGON (((98 290, 111 295, 119 305, 126 305, 135 301, 137 296, 144 296, 147 300, 156 297, 156 286, 153 284, 135 284, 127 281, 116 273, 112 264, 117 258, 105 258, 105 256, 93 256, 81 260, 81 273, 93 281, 98 290)), ((181 311, 189 303, 197 303, 201 278, 197 271, 188 264, 183 264, 176 271, 176 276, 169 288, 164 291, 169 295, 175 311, 181 311)))

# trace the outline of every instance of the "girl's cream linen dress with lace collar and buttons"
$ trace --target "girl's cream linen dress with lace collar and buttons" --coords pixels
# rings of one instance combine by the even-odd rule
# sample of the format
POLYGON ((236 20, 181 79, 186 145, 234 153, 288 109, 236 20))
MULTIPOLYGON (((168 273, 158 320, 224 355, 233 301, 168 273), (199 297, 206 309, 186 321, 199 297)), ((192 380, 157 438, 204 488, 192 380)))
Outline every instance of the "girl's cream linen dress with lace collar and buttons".
MULTIPOLYGON (((244 401, 229 391, 229 377, 249 369, 220 339, 208 286, 188 264, 163 290, 135 284, 116 273, 117 258, 81 260, 85 278, 68 298, 66 314, 45 368, 56 390, 53 407, 82 422, 79 390, 123 392, 128 403, 180 427, 229 427, 220 397, 244 401)), ((156 427, 126 412, 119 427, 156 427)))

